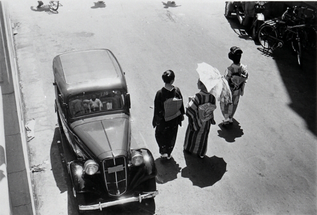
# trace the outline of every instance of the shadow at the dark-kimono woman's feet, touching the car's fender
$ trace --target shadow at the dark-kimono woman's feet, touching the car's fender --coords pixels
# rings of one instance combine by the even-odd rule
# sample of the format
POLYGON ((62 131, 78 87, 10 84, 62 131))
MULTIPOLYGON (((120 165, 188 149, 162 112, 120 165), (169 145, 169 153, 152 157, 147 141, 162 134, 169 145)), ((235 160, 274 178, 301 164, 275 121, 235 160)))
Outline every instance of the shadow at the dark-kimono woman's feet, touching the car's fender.
POLYGON ((156 176, 156 182, 158 184, 164 184, 176 179, 177 174, 180 173, 181 170, 179 164, 176 163, 173 157, 169 160, 159 157, 155 160, 155 166, 158 170, 158 175, 156 176))

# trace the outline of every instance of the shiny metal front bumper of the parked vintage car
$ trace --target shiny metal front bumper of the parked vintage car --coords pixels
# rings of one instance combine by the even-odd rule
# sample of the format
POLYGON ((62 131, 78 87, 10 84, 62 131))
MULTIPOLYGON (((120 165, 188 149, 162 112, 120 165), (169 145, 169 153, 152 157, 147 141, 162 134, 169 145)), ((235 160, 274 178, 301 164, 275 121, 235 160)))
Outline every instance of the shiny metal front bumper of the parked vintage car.
POLYGON ((95 204, 95 205, 79 205, 79 210, 83 210, 83 211, 86 210, 87 211, 87 210, 99 209, 100 211, 102 211, 102 208, 106 208, 106 207, 110 207, 110 206, 114 206, 114 205, 125 204, 125 203, 133 202, 133 201, 141 202, 142 199, 153 198, 156 195, 158 195, 158 191, 149 192, 149 193, 145 193, 143 195, 134 196, 134 197, 122 198, 122 199, 119 199, 116 201, 110 201, 110 202, 105 202, 105 203, 99 202, 99 204, 95 204))

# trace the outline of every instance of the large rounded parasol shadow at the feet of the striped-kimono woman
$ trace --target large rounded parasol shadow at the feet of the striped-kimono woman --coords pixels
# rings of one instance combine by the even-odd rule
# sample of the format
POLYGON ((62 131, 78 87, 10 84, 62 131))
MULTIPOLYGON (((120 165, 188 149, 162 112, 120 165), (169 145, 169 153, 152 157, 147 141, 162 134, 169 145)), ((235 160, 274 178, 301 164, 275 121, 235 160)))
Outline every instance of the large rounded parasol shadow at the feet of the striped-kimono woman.
POLYGON ((227 172, 227 163, 222 157, 197 155, 184 152, 186 167, 181 170, 181 176, 189 178, 193 186, 200 188, 213 186, 227 172))

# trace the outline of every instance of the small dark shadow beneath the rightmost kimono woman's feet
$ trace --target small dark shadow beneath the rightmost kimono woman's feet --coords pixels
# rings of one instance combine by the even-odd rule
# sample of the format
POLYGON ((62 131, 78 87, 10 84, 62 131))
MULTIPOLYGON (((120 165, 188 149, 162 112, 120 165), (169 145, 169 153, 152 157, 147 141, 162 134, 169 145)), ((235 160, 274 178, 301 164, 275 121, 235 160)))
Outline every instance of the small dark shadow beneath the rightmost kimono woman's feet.
POLYGON ((220 123, 218 126, 220 128, 220 130, 218 130, 218 136, 224 138, 227 142, 235 142, 236 138, 244 135, 243 129, 241 129, 236 119, 233 119, 232 124, 222 125, 222 123, 220 123))

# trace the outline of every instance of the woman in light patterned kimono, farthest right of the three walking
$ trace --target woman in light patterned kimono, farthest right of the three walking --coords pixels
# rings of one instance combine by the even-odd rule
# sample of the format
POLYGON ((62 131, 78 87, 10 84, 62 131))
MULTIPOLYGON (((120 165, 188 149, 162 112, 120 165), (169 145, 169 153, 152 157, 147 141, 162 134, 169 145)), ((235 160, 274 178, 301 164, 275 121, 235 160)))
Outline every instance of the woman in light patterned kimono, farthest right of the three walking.
POLYGON ((228 81, 232 92, 232 103, 225 104, 220 101, 220 109, 224 117, 223 124, 233 123, 240 96, 243 96, 244 85, 249 78, 247 67, 240 63, 242 50, 236 46, 230 48, 228 58, 233 63, 225 71, 225 79, 228 81))

